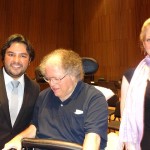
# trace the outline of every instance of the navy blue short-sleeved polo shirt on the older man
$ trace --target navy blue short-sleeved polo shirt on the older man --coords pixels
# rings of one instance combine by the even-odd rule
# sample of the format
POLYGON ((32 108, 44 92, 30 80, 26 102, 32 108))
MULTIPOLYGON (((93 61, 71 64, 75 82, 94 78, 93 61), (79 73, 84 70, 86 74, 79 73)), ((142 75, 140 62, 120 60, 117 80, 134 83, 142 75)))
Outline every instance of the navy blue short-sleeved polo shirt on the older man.
POLYGON ((32 124, 37 138, 50 138, 83 144, 85 134, 97 133, 101 148, 107 142, 108 105, 94 86, 79 81, 64 102, 48 88, 39 95, 32 124))

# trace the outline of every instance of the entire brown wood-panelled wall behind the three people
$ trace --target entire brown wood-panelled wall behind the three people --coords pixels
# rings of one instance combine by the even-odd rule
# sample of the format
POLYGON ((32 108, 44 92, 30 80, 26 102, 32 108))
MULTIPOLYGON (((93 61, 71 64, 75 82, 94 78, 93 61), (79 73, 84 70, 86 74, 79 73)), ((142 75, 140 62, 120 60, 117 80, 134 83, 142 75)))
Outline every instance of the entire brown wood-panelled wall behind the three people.
POLYGON ((0 45, 13 33, 29 38, 32 78, 42 57, 62 47, 95 58, 96 78, 119 80, 143 58, 138 38, 149 8, 149 0, 0 0, 0 45))

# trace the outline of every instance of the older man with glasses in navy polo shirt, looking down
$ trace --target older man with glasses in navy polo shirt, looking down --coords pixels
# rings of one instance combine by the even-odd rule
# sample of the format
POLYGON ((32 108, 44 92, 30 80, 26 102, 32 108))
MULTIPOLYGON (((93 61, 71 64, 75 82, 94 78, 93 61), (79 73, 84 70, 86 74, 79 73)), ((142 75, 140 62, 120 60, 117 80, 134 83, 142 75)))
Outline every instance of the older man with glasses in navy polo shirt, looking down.
POLYGON ((104 149, 107 143, 108 105, 104 95, 82 81, 81 57, 58 49, 44 57, 40 71, 50 88, 39 95, 29 128, 5 145, 21 148, 22 138, 49 138, 104 149))

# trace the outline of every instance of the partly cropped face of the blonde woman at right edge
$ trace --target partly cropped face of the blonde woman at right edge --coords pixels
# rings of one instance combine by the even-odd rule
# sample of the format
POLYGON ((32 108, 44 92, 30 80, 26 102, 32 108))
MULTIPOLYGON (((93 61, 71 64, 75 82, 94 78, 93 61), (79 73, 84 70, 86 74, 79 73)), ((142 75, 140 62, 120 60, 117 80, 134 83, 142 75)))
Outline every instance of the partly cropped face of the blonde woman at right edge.
POLYGON ((147 27, 143 46, 148 55, 150 55, 150 26, 147 27))

